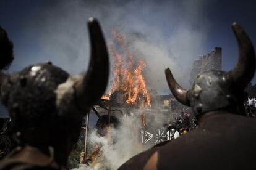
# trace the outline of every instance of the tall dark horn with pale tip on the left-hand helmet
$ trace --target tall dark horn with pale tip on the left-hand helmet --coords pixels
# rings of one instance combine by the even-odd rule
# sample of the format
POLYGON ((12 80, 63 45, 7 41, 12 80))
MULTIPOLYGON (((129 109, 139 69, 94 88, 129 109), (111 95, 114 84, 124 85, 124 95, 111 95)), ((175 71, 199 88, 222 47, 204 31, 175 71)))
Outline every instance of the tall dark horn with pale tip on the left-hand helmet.
POLYGON ((100 25, 89 18, 91 57, 87 74, 75 84, 77 107, 88 109, 101 98, 106 90, 109 75, 108 51, 100 25))

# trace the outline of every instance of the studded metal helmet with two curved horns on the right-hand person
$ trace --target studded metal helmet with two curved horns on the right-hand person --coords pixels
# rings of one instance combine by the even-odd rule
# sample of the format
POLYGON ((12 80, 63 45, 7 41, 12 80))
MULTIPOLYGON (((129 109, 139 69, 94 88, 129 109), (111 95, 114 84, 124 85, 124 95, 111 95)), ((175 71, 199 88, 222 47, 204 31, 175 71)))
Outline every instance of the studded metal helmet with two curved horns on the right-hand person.
POLYGON ((184 105, 192 107, 195 116, 209 111, 239 108, 243 111, 244 89, 254 76, 254 46, 245 31, 237 23, 232 25, 239 46, 239 59, 229 72, 205 71, 197 75, 192 89, 187 91, 177 84, 173 74, 166 68, 165 75, 174 97, 184 105))

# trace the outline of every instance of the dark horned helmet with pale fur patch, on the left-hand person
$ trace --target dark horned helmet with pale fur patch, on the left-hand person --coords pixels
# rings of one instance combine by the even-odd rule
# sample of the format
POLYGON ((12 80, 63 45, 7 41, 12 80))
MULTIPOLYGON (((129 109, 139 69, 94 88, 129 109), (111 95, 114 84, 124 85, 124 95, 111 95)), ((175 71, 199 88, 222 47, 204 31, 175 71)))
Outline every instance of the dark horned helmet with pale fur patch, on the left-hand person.
POLYGON ((109 75, 108 52, 94 18, 88 20, 88 30, 91 57, 85 75, 69 76, 51 62, 30 65, 12 76, 1 73, 1 100, 17 131, 23 130, 31 137, 40 133, 42 140, 51 140, 48 135, 56 136, 58 129, 79 126, 85 113, 103 95, 109 75))

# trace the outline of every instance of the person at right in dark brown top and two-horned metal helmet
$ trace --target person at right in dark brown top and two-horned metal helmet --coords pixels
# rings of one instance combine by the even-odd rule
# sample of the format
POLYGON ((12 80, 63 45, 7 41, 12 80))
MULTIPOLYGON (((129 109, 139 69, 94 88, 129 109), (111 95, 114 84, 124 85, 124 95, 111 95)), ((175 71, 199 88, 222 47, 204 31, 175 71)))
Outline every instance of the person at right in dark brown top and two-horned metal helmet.
POLYGON ((190 106, 198 119, 194 131, 130 158, 119 169, 256 169, 256 119, 245 116, 245 87, 254 76, 254 47, 237 23, 239 46, 233 70, 210 70, 187 91, 169 68, 166 79, 174 97, 190 106))

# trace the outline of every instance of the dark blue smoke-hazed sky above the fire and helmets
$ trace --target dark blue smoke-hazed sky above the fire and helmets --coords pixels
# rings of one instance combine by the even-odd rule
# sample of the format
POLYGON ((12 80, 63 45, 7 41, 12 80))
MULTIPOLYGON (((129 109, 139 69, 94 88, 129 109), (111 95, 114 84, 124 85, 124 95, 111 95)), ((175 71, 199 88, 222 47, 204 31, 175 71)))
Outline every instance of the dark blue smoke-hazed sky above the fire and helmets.
MULTIPOLYGON (((106 39, 110 28, 118 28, 127 35, 140 33, 145 40, 130 41, 147 56, 144 59, 148 62, 148 77, 153 79, 151 87, 157 86, 160 94, 168 94, 164 67, 171 67, 177 80, 189 86, 192 61, 215 46, 223 47, 223 70, 234 67, 238 52, 231 23, 241 24, 256 44, 255 4, 221 0, 1 0, 0 25, 15 46, 10 73, 47 60, 53 60, 71 74, 85 71, 89 56, 85 21, 90 16, 100 20, 106 39), (150 57, 151 54, 158 59, 150 57)), ((256 83, 256 78, 252 83, 256 83)))

